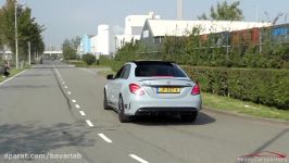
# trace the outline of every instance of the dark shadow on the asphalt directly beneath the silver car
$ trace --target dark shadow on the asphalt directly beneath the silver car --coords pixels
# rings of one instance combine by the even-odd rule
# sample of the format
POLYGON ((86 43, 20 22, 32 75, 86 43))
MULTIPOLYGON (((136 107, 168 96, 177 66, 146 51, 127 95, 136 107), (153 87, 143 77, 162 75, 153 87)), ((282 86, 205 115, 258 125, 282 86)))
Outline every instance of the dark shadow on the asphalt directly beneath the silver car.
POLYGON ((134 123, 146 126, 165 126, 165 125, 206 125, 214 123, 215 118, 200 112, 196 122, 186 123, 179 116, 140 116, 134 120, 134 123))

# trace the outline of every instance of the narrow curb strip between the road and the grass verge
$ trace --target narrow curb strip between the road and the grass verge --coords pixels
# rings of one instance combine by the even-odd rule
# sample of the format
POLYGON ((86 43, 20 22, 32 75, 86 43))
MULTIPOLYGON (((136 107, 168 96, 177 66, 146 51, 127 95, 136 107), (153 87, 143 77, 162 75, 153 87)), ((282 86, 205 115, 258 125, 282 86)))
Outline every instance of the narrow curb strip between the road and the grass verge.
POLYGON ((262 122, 262 123, 282 125, 282 126, 286 126, 289 128, 289 121, 265 118, 265 117, 259 117, 259 116, 247 115, 247 114, 241 114, 241 113, 234 113, 234 112, 229 112, 229 111, 212 109, 212 108, 209 108, 206 105, 203 105, 203 111, 215 113, 215 114, 223 114, 223 115, 228 115, 228 116, 240 117, 240 118, 250 120, 250 121, 262 122))

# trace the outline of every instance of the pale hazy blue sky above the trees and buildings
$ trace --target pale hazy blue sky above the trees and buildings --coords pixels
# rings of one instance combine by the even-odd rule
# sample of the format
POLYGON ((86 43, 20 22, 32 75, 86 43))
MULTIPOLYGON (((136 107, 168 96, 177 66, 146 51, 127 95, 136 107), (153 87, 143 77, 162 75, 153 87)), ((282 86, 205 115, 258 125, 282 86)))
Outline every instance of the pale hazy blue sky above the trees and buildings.
MULTIPOLYGON (((223 0, 183 0, 184 20, 198 20, 203 12, 223 0)), ((235 0, 227 0, 233 2, 235 0)), ((274 20, 280 12, 279 24, 289 23, 289 0, 240 0, 244 21, 274 20), (268 17, 264 14, 268 13, 268 17)), ((5 0, 0 0, 3 5, 5 0)), ((83 35, 96 35, 99 24, 109 24, 116 34, 122 34, 127 15, 148 14, 153 11, 164 20, 177 17, 177 0, 18 0, 29 7, 36 21, 45 25, 45 42, 60 46, 64 39, 83 35)))

